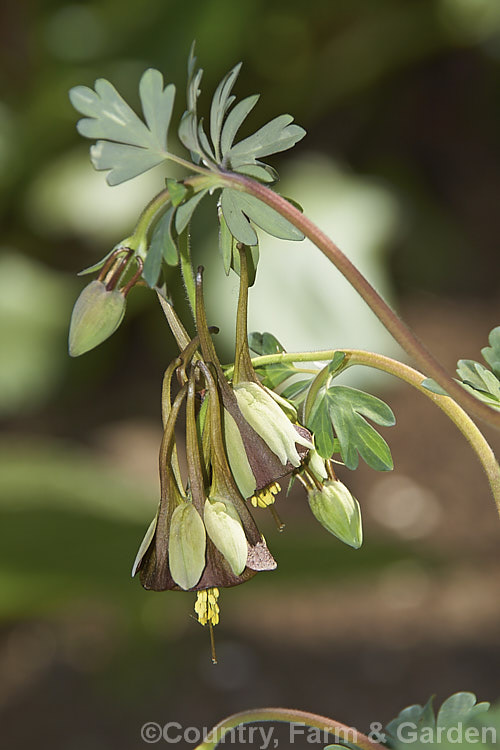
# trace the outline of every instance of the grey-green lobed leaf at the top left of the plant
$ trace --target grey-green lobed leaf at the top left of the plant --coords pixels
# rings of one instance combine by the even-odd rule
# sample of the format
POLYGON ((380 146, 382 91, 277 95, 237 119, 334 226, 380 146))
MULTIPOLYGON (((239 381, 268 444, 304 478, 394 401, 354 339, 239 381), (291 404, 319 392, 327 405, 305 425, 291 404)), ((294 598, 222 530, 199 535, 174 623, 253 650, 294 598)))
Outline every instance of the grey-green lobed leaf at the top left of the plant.
POLYGON ((168 158, 167 134, 172 117, 175 86, 163 87, 163 76, 150 68, 139 83, 144 120, 104 78, 95 82, 95 90, 75 86, 71 103, 85 117, 78 121, 78 132, 96 139, 90 148, 94 167, 110 170, 109 185, 118 185, 168 158))

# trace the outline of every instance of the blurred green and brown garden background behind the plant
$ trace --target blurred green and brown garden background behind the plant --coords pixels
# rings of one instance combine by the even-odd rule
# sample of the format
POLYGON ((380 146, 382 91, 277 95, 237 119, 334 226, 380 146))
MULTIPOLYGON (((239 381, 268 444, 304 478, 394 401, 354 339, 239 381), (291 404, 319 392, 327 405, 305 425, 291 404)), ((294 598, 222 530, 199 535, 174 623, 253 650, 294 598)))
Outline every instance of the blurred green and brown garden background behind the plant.
MULTIPOLYGON (((367 729, 431 693, 496 700, 500 526, 474 455, 430 402, 354 374, 398 420, 384 433, 391 475, 342 475, 366 542, 344 548, 300 493, 279 503, 283 534, 262 515, 279 568, 223 593, 212 667, 191 597, 129 577, 157 501, 175 353, 160 310, 135 290, 118 333, 76 361, 66 336, 76 272, 130 233, 165 175, 108 188, 67 90, 103 76, 137 103, 154 66, 177 84, 180 116, 196 39, 202 107, 243 60, 236 93, 262 93, 249 126, 291 112, 308 131, 273 160, 283 191, 450 371, 479 359, 500 323, 498 0, 22 0, 0 14, 2 746, 135 750, 147 721, 210 726, 256 705, 367 729)), ((229 359, 236 282, 217 261, 213 204, 193 234, 229 359)), ((253 328, 289 350, 398 353, 311 247, 269 241, 262 256, 253 328)))

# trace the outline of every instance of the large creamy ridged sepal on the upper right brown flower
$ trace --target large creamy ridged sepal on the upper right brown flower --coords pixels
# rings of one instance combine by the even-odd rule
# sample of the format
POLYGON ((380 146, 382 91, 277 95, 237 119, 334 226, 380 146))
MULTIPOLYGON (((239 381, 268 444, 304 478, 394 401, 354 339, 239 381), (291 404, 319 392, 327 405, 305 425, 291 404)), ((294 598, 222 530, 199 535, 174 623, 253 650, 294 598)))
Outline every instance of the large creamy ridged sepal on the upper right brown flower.
POLYGON ((276 401, 258 383, 239 383, 234 387, 234 393, 248 424, 265 440, 281 463, 299 466, 300 456, 295 444, 306 448, 314 446, 295 429, 276 401))

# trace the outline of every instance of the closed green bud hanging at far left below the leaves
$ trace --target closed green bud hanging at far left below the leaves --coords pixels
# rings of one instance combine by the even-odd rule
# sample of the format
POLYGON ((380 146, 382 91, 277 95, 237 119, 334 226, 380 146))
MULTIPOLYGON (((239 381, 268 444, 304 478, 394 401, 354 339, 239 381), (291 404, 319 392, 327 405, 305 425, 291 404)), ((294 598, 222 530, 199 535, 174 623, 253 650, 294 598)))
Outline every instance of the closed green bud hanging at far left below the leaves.
POLYGON ((113 334, 125 314, 125 296, 108 291, 102 281, 91 281, 75 302, 69 327, 71 357, 94 349, 113 334))

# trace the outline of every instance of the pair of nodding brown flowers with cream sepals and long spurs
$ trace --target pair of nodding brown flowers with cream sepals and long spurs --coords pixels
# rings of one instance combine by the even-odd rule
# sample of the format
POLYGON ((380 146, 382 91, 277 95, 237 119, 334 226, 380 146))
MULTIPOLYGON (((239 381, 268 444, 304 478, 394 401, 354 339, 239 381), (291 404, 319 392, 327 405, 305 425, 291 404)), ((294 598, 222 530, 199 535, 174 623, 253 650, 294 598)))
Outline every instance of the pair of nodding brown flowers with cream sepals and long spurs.
MULTIPOLYGON (((210 631, 219 622, 221 588, 237 586, 257 572, 276 568, 251 508, 272 506, 281 489, 278 480, 292 472, 298 474, 308 489, 313 514, 332 530, 332 523, 329 527, 325 521, 328 512, 321 515, 316 510, 320 501, 315 504, 311 499, 314 493, 318 498, 330 497, 326 482, 332 481, 331 469, 325 469, 325 462, 317 457, 313 436, 298 423, 292 404, 265 388, 253 369, 247 343, 246 248, 239 252, 241 281, 232 381, 226 378, 213 343, 212 334, 218 329, 208 327, 202 268, 195 279, 196 336, 189 340, 173 310, 169 312, 176 319, 172 328, 177 338, 188 343, 164 377, 160 501, 133 568, 133 575, 139 573, 146 589, 196 592, 198 620, 209 625, 210 631), (172 398, 174 378, 180 389, 172 398), (184 477, 175 432, 183 409, 184 477)), ((274 508, 272 511, 283 528, 274 508)), ((347 534, 336 535, 352 546, 361 543, 359 534, 355 541, 347 534)))

